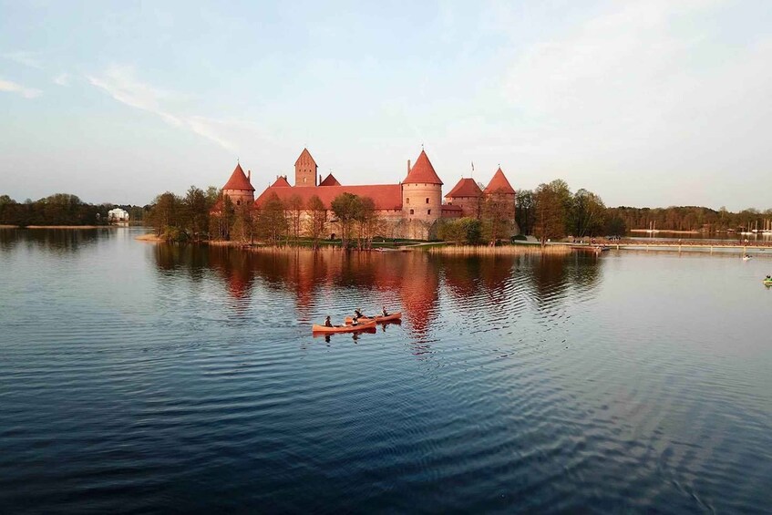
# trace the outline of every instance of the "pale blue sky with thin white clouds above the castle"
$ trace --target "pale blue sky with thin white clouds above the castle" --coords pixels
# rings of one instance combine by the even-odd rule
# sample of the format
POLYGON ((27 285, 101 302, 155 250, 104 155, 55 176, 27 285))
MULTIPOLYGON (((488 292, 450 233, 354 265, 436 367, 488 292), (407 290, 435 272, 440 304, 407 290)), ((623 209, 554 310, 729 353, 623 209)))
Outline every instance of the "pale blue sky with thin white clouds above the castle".
POLYGON ((772 207, 772 2, 0 0, 0 194, 561 178, 606 205, 772 207), (472 163, 474 171, 472 172, 472 163))

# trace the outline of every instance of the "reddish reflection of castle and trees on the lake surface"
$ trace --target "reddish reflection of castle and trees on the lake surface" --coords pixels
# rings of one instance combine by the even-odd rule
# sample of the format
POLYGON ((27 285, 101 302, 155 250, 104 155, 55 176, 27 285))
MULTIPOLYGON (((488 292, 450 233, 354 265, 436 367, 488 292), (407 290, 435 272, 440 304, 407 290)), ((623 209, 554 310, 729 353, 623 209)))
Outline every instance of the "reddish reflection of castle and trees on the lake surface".
POLYGON ((153 255, 160 271, 181 268, 193 279, 203 273, 221 277, 225 293, 238 310, 272 292, 289 294, 292 316, 311 323, 320 323, 324 313, 342 316, 363 307, 366 314, 386 304, 389 311, 403 312, 416 354, 427 352, 442 302, 454 304, 454 310, 463 316, 478 319, 501 312, 519 314, 529 307, 554 309, 569 289, 592 289, 600 276, 597 258, 574 254, 249 252, 223 246, 160 244, 153 255))

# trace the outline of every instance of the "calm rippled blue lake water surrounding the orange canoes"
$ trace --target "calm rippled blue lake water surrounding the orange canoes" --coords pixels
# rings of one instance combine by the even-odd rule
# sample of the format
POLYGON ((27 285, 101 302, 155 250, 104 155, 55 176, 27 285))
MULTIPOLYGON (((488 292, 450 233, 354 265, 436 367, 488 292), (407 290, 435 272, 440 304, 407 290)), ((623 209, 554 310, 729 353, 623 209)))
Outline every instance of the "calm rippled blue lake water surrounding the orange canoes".
POLYGON ((772 258, 135 234, 0 232, 0 512, 772 506, 772 258))

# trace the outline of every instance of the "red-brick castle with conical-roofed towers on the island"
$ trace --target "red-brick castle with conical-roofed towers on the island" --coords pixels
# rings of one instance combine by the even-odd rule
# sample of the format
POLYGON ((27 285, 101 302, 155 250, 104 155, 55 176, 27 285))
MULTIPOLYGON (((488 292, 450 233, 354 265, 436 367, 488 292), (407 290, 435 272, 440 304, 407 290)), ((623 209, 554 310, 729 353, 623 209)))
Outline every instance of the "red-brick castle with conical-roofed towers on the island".
MULTIPOLYGON (((222 187, 233 204, 253 202, 257 208, 276 195, 283 202, 291 198, 300 199, 304 206, 315 195, 326 208, 326 220, 335 223, 331 202, 343 193, 352 193, 359 197, 370 197, 376 207, 376 214, 383 222, 383 236, 391 238, 411 238, 428 240, 436 237, 437 225, 442 219, 472 217, 479 219, 483 215, 485 201, 495 202, 508 230, 503 236, 517 234, 515 222, 515 190, 510 181, 499 170, 493 174, 485 190, 481 190, 472 179, 461 179, 458 184, 442 197, 442 180, 422 149, 416 163, 411 166, 407 161, 407 176, 396 184, 342 185, 332 173, 324 180, 318 175, 318 166, 308 149, 303 149, 294 164, 294 186, 287 176, 279 176, 265 191, 254 198, 251 172, 244 174, 240 164, 236 165, 231 178, 222 187)), ((215 206, 213 211, 219 211, 215 206)), ((305 217, 310 217, 305 213, 305 217)), ((335 232, 331 230, 330 232, 335 232)))

